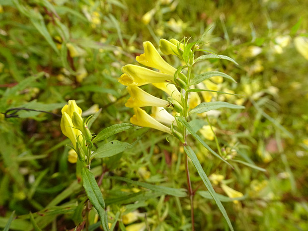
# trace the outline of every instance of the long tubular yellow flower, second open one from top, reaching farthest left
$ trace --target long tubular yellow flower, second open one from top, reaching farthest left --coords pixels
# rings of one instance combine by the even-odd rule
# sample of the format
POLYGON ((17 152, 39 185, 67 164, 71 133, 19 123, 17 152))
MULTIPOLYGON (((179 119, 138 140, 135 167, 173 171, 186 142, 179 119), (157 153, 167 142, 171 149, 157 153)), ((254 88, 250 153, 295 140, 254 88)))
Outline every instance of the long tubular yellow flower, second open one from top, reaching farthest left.
POLYGON ((132 64, 122 67, 122 72, 124 74, 119 78, 119 82, 126 86, 141 86, 153 82, 174 82, 171 75, 132 64))

